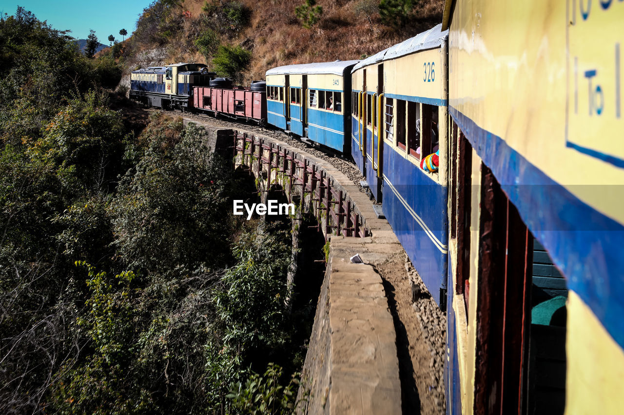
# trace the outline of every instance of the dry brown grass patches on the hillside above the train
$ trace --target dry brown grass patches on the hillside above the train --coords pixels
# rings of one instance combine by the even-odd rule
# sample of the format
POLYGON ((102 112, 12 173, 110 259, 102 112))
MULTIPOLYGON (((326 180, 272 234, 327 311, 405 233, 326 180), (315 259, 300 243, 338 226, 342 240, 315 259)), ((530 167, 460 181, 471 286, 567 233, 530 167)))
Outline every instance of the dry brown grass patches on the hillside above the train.
MULTIPOLYGON (((228 42, 252 49, 253 59, 244 74, 245 82, 264 79, 266 70, 276 66, 361 59, 363 55, 376 54, 441 22, 444 7, 444 0, 423 0, 414 9, 415 17, 410 24, 400 31, 381 25, 379 16, 374 16, 371 31, 366 17, 354 13, 359 0, 318 0, 323 16, 309 30, 301 27, 295 18, 295 7, 303 4, 303 0, 240 1, 253 11, 250 26, 228 42)), ((188 11, 191 17, 185 19, 180 39, 172 39, 166 49, 172 62, 205 61, 192 44, 198 36, 193 25, 203 4, 205 0, 182 3, 178 12, 188 11)))

